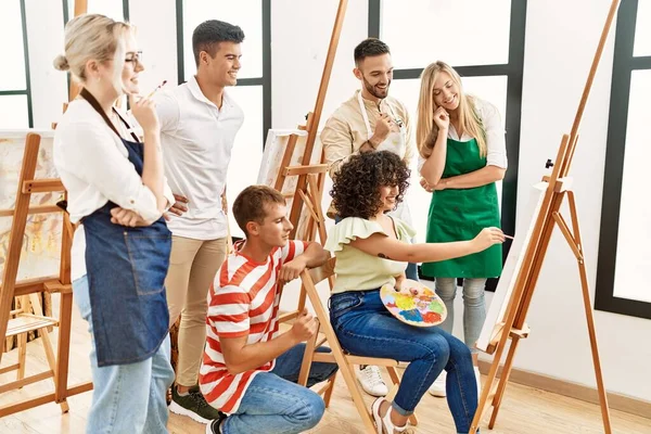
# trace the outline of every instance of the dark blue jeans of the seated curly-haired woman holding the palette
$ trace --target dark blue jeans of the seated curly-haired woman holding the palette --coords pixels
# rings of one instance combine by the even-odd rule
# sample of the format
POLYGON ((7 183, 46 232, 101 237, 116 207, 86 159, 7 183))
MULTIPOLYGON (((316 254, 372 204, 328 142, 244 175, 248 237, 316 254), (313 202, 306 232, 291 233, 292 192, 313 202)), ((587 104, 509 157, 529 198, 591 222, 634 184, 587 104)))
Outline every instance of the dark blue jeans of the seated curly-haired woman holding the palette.
POLYGON ((384 307, 380 291, 348 291, 330 297, 330 320, 344 349, 356 356, 408 361, 393 408, 409 416, 445 369, 447 400, 457 432, 468 433, 477 408, 470 349, 438 327, 399 321, 384 307))

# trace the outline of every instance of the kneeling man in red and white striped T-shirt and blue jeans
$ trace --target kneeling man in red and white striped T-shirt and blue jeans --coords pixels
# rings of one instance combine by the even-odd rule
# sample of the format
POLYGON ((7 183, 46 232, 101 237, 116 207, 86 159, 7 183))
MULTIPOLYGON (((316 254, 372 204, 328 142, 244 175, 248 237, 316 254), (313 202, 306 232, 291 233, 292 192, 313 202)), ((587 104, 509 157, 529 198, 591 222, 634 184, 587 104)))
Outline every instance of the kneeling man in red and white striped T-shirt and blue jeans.
MULTIPOLYGON (((246 239, 234 245, 208 294, 200 373, 206 400, 229 416, 206 425, 206 433, 299 433, 319 423, 324 411, 319 395, 295 384, 302 342, 316 333, 317 321, 304 310, 290 331, 279 334, 278 284, 322 265, 328 253, 317 243, 289 239, 293 226, 284 197, 271 188, 246 188, 233 203, 233 215, 246 239)), ((336 369, 312 363, 308 387, 336 369)))

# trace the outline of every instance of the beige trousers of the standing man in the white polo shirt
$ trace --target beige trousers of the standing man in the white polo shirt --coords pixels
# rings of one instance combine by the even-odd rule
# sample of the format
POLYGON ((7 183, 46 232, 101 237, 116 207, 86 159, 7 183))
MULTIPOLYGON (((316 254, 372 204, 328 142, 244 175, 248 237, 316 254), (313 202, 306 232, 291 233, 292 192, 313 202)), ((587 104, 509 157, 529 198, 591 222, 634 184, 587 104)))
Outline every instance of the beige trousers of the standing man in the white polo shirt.
POLYGON ((226 250, 226 238, 208 241, 174 235, 171 238, 171 255, 165 288, 169 326, 181 316, 176 382, 182 386, 193 386, 197 383, 206 342, 208 289, 224 263, 226 250))

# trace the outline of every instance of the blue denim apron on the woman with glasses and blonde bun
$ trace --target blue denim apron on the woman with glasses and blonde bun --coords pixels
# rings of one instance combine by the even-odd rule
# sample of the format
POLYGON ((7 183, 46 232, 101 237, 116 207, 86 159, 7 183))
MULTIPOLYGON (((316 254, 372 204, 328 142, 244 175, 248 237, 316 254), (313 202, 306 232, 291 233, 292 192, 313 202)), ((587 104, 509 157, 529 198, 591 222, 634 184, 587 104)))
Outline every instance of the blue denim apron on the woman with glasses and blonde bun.
MULTIPOLYGON (((119 136, 92 94, 82 89, 80 95, 119 136)), ((142 143, 131 136, 136 141, 120 139, 129 162, 142 175, 142 143)), ((171 232, 163 217, 145 227, 114 225, 111 209, 117 206, 110 201, 81 220, 99 367, 146 360, 158 350, 169 327, 164 282, 171 232)))

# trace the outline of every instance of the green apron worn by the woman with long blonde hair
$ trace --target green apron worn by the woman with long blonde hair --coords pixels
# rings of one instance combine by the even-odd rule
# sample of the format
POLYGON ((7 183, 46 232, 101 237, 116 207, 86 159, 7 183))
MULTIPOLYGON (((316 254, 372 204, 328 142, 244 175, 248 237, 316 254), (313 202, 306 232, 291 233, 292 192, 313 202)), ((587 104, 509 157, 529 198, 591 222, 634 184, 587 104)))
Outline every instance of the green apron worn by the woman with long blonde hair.
MULTIPOLYGON (((469 174, 486 166, 475 139, 447 139, 442 178, 469 174)), ((472 189, 434 191, 427 218, 427 242, 472 240, 489 226, 500 227, 495 182, 472 189)), ((501 244, 483 252, 438 263, 424 263, 422 272, 432 278, 496 278, 502 269, 501 244)))

